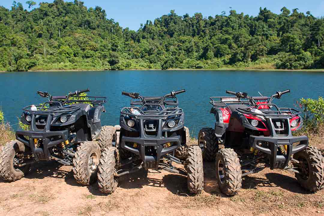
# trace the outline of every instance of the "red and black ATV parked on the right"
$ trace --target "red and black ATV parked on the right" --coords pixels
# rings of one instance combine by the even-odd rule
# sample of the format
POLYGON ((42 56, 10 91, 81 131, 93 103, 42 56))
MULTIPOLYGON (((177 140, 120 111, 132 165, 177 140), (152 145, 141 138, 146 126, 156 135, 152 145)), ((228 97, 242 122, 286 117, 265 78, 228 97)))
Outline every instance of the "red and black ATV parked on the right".
POLYGON ((247 93, 226 91, 235 97, 211 97, 215 128, 199 132, 198 143, 206 160, 216 161, 221 191, 236 194, 242 176, 263 170, 294 172, 301 186, 309 191, 324 187, 324 158, 317 148, 308 146, 307 136, 293 136, 303 125, 300 112, 279 108, 272 103, 290 92, 278 91, 271 97, 251 97, 247 93), (224 149, 220 149, 224 145, 224 149))

